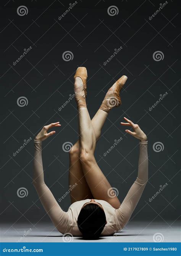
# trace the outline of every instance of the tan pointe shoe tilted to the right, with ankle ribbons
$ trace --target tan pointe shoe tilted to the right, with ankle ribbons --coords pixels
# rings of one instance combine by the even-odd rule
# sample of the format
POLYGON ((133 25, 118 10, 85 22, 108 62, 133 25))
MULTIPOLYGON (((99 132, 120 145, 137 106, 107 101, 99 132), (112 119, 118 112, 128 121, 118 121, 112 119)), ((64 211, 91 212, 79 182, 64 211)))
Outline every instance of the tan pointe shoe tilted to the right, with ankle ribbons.
POLYGON ((126 83, 127 79, 127 76, 121 76, 121 78, 116 81, 115 88, 108 90, 99 109, 102 109, 108 113, 113 107, 119 107, 122 104, 120 91, 123 88, 123 85, 126 83))

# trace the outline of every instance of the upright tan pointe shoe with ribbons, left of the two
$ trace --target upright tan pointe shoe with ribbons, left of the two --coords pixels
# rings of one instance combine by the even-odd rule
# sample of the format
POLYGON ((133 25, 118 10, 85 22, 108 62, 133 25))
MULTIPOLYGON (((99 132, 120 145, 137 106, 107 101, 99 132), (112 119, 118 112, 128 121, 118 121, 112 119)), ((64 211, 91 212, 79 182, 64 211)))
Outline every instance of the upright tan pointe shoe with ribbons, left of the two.
POLYGON ((76 102, 77 102, 77 106, 78 108, 80 107, 87 107, 86 106, 86 97, 87 97, 87 69, 85 67, 79 67, 76 70, 76 73, 74 75, 74 79, 76 79, 76 77, 79 77, 82 79, 82 83, 83 83, 83 89, 81 90, 82 86, 78 86, 78 92, 76 92, 76 102))

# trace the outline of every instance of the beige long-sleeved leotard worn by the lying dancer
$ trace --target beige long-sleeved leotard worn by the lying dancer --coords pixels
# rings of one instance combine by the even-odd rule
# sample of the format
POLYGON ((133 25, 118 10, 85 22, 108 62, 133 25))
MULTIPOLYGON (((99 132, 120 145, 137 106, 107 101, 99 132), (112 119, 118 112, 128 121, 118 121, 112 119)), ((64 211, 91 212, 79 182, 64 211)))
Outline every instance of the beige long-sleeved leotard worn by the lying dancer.
MULTIPOLYGON (((101 235, 113 235, 116 231, 122 229, 128 223, 148 180, 148 155, 147 141, 139 142, 140 154, 138 164, 138 175, 123 200, 120 208, 115 209, 107 201, 96 200, 100 203, 105 211, 107 224, 105 225, 101 235)), ((58 202, 52 195, 47 185, 44 183, 44 173, 42 165, 42 142, 34 140, 34 182, 40 201, 47 211, 53 224, 61 233, 71 233, 73 236, 82 236, 77 225, 79 212, 84 203, 89 202, 92 198, 77 201, 63 211, 58 202)))

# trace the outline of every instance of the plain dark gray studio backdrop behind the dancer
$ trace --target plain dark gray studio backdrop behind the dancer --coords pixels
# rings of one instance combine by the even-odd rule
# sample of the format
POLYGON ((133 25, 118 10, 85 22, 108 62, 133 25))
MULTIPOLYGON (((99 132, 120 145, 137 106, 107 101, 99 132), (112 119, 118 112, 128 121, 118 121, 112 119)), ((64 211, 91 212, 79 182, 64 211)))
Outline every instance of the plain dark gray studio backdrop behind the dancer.
MULTIPOLYGON (((43 142, 45 182, 57 201, 68 191, 69 156, 62 145, 78 139, 78 112, 69 98, 78 66, 88 71, 91 117, 108 88, 128 76, 122 106, 110 112, 95 157, 122 201, 137 177, 139 142, 125 134, 120 122, 126 116, 138 123, 149 140, 149 182, 132 219, 175 221, 180 190, 178 3, 169 0, 160 9, 154 0, 71 5, 62 0, 1 1, 1 221, 50 221, 32 186, 34 146, 29 138, 51 122, 60 121, 61 128, 43 142), (21 5, 25 13, 18 9, 21 5), (26 196, 17 194, 19 188, 26 196)), ((68 209, 69 195, 60 205, 68 209)))

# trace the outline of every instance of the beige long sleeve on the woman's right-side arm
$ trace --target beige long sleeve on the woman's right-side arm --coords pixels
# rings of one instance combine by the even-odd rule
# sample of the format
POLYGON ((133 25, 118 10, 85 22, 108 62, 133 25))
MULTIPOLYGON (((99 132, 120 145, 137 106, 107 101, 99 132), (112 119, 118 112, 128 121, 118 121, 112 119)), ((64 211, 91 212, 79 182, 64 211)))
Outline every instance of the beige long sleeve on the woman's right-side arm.
POLYGON ((124 198, 120 208, 115 210, 115 214, 118 218, 121 228, 123 228, 129 221, 148 180, 147 143, 147 141, 139 143, 140 153, 137 178, 129 189, 129 192, 124 198))

